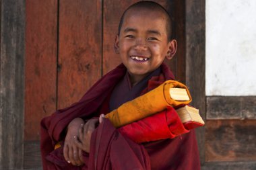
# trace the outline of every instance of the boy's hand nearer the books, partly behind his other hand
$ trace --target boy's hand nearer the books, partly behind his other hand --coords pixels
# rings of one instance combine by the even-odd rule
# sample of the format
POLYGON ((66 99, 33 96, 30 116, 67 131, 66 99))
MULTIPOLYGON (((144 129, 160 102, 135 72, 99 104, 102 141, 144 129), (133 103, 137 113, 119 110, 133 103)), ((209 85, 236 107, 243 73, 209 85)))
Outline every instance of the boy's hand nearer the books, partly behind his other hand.
MULTIPOLYGON (((103 116, 100 115, 100 122, 102 122, 103 116)), ((98 119, 91 119, 84 124, 83 127, 79 129, 79 135, 75 137, 75 143, 79 147, 79 149, 82 149, 86 153, 90 153, 90 141, 92 132, 94 132, 96 128, 96 124, 99 122, 98 119)))

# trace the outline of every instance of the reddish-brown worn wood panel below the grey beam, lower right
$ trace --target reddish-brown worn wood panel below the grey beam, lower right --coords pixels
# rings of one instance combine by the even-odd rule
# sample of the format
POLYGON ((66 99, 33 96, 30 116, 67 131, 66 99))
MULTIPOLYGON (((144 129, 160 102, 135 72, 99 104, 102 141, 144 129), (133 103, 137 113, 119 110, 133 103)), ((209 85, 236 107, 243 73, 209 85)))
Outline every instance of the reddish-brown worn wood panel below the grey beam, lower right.
POLYGON ((255 120, 208 120, 205 161, 256 161, 255 120))

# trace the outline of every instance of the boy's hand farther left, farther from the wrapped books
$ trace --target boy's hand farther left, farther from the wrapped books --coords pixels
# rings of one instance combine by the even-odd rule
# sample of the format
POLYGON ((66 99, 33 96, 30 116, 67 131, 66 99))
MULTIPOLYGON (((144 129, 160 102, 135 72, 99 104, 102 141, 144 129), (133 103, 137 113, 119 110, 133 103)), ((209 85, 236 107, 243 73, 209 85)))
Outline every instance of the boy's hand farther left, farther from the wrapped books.
POLYGON ((67 134, 65 137, 63 155, 65 160, 72 165, 82 165, 84 164, 82 158, 82 150, 75 144, 75 136, 78 135, 79 129, 84 125, 84 120, 81 118, 75 118, 69 123, 67 127, 67 134))

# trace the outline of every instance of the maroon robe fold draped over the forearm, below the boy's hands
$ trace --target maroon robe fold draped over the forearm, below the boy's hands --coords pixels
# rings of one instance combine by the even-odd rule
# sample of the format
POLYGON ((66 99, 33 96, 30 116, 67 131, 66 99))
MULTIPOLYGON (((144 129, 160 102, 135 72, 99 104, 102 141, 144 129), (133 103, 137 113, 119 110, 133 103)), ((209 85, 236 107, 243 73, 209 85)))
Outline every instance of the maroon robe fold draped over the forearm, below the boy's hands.
POLYGON ((107 119, 92 134, 90 157, 87 153, 83 154, 85 165, 75 167, 65 161, 62 144, 61 148, 46 156, 49 163, 44 165, 44 169, 151 169, 150 157, 143 145, 120 135, 107 119))

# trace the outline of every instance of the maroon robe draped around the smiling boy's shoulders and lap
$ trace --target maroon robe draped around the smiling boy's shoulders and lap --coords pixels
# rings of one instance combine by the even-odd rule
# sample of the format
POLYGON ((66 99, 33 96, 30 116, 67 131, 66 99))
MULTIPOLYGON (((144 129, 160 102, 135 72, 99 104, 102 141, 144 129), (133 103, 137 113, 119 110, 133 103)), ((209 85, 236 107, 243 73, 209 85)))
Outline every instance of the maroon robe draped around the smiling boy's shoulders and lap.
MULTIPOLYGON (((65 127, 69 122, 71 122, 71 120, 73 120, 73 118, 79 117, 88 119, 98 116, 100 113, 108 113, 108 109, 104 106, 104 103, 109 101, 113 87, 117 85, 120 79, 125 75, 125 72, 125 67, 123 65, 119 65, 119 67, 102 77, 102 79, 94 84, 94 86, 79 102, 74 103, 69 108, 59 110, 52 116, 46 117, 42 120, 41 153, 44 169, 47 169, 47 167, 61 169, 59 167, 61 163, 63 163, 62 165, 65 165, 65 160, 61 160, 63 159, 63 155, 61 155, 61 148, 59 148, 58 151, 54 151, 54 146, 57 141, 64 139, 62 132, 65 130, 65 127), (46 160, 46 156, 48 160, 46 160)), ((165 80, 174 78, 168 67, 164 64, 161 66, 161 72, 164 76, 159 77, 158 81, 154 80, 151 83, 149 81, 150 85, 145 89, 145 92, 150 89, 154 89, 165 80)), ((106 140, 109 136, 105 136, 105 133, 101 133, 100 136, 98 135, 100 129, 105 130, 104 128, 100 128, 102 126, 104 126, 105 129, 111 129, 109 121, 106 121, 104 124, 100 124, 100 126, 95 130, 91 140, 90 157, 88 158, 88 155, 84 153, 86 165, 83 167, 68 165, 69 169, 95 169, 95 167, 98 167, 97 169, 100 169, 100 167, 104 169, 119 169, 120 166, 124 166, 121 169, 125 169, 125 165, 127 165, 127 169, 130 169, 131 165, 136 165, 135 167, 139 169, 150 169, 150 165, 152 169, 200 169, 199 153, 193 130, 174 139, 146 142, 142 146, 123 137, 119 132, 117 132, 117 130, 110 130, 115 134, 114 138, 106 140), (102 146, 102 144, 104 144, 104 140, 106 140, 105 143, 107 143, 105 150, 104 146, 102 146), (99 145, 99 143, 101 144, 99 145), (97 146, 103 147, 105 152, 99 152, 96 149, 97 146), (111 146, 113 149, 110 149, 111 146), (129 151, 128 153, 121 152, 120 154, 123 156, 113 154, 117 153, 120 148, 120 151, 123 151, 123 146, 127 148, 127 151, 129 151), (147 152, 145 152, 145 148, 147 152), (98 153, 104 154, 100 155, 98 153), (97 160, 94 159, 95 154, 98 157, 97 160), (150 156, 150 163, 148 155, 150 156), (108 156, 111 156, 110 159, 108 156), (123 157, 127 157, 129 159, 125 159, 124 161, 122 159, 123 157)), ((112 137, 113 134, 111 134, 112 137)))

